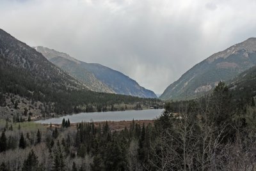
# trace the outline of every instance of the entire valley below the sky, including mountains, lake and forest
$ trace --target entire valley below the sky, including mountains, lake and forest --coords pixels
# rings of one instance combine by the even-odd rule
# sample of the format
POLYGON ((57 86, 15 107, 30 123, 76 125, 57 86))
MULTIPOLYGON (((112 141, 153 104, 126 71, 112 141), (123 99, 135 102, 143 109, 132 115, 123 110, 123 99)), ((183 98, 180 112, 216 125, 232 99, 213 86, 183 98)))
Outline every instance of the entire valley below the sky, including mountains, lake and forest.
POLYGON ((159 98, 119 71, 1 29, 0 52, 0 171, 256 165, 255 38, 196 64, 159 98))

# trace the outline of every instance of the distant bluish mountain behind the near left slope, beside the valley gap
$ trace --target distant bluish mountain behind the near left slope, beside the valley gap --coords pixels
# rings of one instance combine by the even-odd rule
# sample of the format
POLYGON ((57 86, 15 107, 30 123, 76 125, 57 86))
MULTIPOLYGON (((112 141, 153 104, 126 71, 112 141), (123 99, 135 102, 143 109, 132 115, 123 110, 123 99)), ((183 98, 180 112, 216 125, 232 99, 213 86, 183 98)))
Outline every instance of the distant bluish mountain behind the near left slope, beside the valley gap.
POLYGON ((141 87, 135 80, 101 64, 84 63, 68 54, 46 47, 35 47, 51 63, 67 71, 92 91, 157 98, 154 92, 141 87))

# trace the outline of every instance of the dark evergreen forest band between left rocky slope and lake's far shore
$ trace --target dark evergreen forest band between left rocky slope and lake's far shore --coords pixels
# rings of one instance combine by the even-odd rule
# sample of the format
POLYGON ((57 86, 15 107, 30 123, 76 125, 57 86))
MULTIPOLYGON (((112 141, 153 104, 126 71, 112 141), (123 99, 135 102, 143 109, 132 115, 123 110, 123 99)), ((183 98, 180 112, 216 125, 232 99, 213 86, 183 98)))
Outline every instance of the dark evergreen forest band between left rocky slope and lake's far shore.
MULTIPOLYGON (((60 80, 43 80, 22 68, 15 68, 4 58, 0 58, 0 106, 6 105, 4 98, 18 94, 32 101, 45 103, 44 113, 71 114, 111 110, 115 104, 141 103, 148 107, 161 105, 161 100, 138 98, 120 94, 97 93, 87 89, 77 89, 60 80), (58 84, 57 84, 58 83, 58 84), (9 94, 9 95, 8 95, 9 94)), ((13 101, 13 108, 18 102, 13 101)), ((33 104, 32 104, 33 105, 33 104)), ((118 108, 120 110, 121 108, 118 108)), ((124 109, 124 108, 123 108, 124 109)))

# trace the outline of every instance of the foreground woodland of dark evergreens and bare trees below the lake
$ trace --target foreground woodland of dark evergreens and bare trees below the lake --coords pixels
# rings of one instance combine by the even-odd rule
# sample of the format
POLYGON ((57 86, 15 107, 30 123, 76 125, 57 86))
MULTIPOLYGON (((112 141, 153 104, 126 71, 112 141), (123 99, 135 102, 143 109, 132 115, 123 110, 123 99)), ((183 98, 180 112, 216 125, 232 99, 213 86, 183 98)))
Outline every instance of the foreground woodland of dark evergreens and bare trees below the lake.
POLYGON ((220 82, 211 95, 166 103, 154 124, 118 131, 2 120, 0 170, 253 170, 255 101, 234 94, 220 82))

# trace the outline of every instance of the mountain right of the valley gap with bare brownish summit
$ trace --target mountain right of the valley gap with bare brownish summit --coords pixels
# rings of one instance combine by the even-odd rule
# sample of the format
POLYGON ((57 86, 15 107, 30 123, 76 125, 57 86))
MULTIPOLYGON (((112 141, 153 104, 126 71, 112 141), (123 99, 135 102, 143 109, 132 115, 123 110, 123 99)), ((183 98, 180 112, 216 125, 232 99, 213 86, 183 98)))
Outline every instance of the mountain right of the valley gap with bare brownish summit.
POLYGON ((210 91, 220 81, 230 80, 256 64, 256 38, 249 38, 213 54, 184 73, 159 97, 186 100, 210 91))

